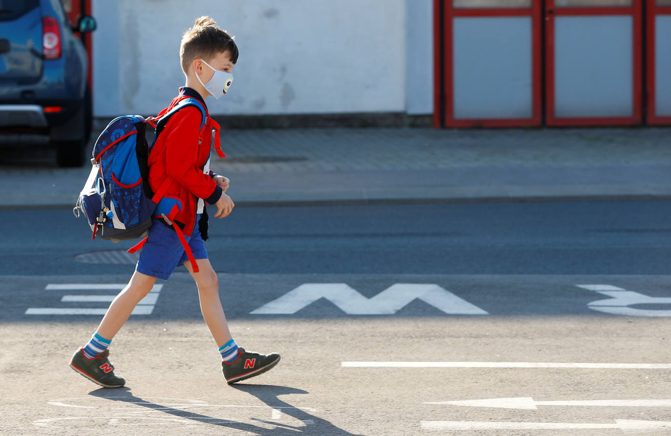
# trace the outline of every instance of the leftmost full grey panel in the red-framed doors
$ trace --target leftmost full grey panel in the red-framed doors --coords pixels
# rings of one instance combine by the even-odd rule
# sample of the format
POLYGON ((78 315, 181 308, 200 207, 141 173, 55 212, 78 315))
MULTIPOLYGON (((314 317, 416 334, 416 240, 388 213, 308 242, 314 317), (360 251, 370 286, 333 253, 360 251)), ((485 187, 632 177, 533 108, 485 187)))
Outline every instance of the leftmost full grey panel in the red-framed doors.
POLYGON ((454 118, 531 118, 531 17, 454 19, 454 118))

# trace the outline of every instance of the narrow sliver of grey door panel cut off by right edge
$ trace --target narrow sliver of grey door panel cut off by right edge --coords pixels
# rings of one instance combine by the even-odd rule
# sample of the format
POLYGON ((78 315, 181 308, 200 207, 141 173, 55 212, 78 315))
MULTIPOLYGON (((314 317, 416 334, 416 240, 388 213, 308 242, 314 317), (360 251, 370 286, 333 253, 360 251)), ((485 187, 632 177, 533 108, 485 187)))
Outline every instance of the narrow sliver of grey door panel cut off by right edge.
POLYGON ((671 15, 655 18, 655 113, 671 116, 671 15))

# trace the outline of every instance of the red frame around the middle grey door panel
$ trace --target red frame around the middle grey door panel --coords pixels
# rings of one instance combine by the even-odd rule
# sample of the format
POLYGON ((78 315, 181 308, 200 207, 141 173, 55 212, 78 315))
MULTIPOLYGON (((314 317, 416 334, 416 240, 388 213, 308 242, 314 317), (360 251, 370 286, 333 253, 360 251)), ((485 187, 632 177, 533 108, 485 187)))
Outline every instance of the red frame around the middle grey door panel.
POLYGON ((633 0, 631 6, 555 7, 554 0, 546 3, 546 124, 548 126, 631 126, 642 119, 642 2, 633 0), (629 15, 632 17, 633 107, 628 117, 569 117, 555 116, 554 89, 554 17, 555 16, 629 15))

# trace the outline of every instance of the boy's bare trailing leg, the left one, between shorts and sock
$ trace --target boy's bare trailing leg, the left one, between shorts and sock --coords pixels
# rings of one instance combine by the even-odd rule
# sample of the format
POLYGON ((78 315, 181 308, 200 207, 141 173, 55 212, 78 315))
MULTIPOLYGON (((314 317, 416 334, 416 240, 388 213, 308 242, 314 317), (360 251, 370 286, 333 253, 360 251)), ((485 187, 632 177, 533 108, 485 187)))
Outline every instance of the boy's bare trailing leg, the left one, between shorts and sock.
POLYGON ((96 333, 111 341, 128 320, 135 306, 152 290, 154 283, 156 283, 156 277, 135 271, 125 288, 109 305, 96 333))

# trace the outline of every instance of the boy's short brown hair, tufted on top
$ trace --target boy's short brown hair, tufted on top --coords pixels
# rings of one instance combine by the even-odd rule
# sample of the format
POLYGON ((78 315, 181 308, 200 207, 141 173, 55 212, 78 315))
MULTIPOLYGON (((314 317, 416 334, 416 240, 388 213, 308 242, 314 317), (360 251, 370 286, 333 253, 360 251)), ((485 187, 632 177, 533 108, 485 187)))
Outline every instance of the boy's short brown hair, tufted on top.
POLYGON ((193 28, 184 32, 179 48, 179 59, 185 74, 195 59, 209 60, 218 53, 228 51, 231 62, 238 62, 238 46, 235 36, 230 36, 217 26, 217 21, 203 16, 196 19, 193 28))

